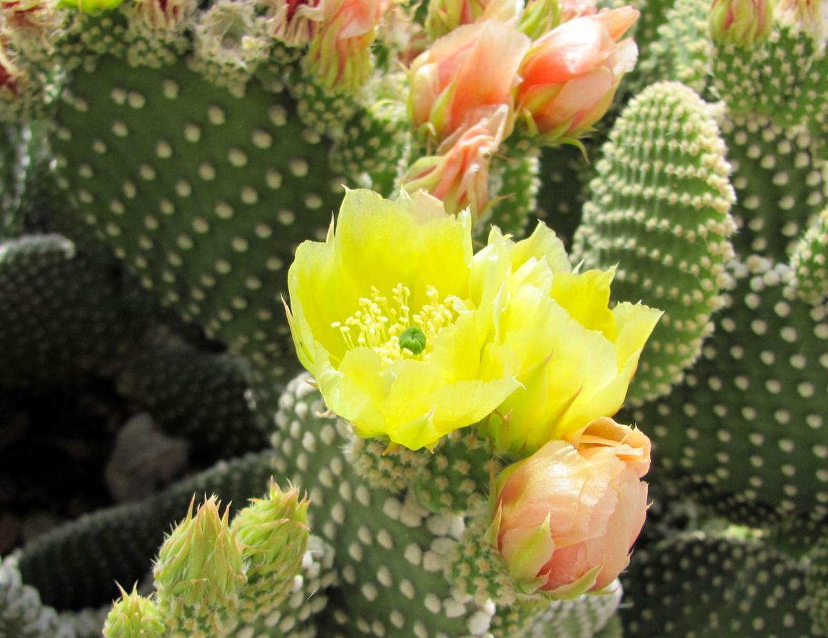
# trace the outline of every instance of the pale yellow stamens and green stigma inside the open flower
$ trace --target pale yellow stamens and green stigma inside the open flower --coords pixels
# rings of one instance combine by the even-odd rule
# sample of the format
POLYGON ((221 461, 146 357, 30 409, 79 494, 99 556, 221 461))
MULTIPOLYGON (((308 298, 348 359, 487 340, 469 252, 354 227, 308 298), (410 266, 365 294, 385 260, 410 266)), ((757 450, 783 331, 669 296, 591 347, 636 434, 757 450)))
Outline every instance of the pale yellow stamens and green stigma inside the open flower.
POLYGON ((390 300, 372 286, 371 296, 359 299, 359 310, 331 327, 339 328, 348 350, 371 348, 385 364, 396 359, 427 361, 435 337, 455 321, 457 312, 449 299, 440 301, 434 286, 426 287, 427 302, 413 315, 410 298, 411 290, 402 283, 392 288, 390 300))

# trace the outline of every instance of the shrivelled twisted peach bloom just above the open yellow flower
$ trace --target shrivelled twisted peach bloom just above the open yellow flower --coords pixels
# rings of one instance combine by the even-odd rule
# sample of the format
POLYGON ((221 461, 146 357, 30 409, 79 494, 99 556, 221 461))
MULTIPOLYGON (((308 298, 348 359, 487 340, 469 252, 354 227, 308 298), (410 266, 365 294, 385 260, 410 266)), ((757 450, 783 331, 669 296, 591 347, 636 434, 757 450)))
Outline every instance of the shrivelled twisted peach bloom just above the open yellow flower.
POLYGON ((503 140, 508 107, 484 107, 448 137, 437 155, 423 157, 408 169, 402 188, 425 190, 442 200, 445 211, 469 208, 481 217, 489 202, 489 163, 503 140))

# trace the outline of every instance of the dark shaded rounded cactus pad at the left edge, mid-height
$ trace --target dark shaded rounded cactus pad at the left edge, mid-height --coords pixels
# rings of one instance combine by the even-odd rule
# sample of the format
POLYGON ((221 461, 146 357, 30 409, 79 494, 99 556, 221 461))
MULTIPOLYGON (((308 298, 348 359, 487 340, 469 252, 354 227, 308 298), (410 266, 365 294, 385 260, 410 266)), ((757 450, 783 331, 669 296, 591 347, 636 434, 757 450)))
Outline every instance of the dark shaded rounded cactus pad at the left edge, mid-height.
POLYGON ((108 374, 146 327, 112 264, 60 235, 0 242, 0 379, 25 385, 108 374))

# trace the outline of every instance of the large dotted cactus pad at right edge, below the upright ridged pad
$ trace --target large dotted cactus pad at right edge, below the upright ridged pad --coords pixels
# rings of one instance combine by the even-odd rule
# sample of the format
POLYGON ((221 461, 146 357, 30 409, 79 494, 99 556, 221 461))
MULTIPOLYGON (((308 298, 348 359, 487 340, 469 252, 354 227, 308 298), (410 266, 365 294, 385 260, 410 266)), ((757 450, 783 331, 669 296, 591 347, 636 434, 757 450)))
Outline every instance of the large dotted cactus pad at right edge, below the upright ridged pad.
POLYGON ((719 329, 667 398, 633 410, 654 470, 723 515, 763 526, 828 513, 828 307, 787 292, 787 265, 734 265, 719 329))

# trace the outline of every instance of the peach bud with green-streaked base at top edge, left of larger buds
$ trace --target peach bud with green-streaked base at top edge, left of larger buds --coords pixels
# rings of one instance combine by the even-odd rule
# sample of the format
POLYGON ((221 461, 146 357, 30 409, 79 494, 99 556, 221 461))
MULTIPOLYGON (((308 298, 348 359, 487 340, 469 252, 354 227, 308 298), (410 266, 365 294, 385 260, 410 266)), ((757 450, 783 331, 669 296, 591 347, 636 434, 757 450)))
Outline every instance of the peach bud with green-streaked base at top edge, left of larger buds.
POLYGON ((385 0, 325 0, 324 18, 310 42, 310 69, 328 88, 355 91, 368 80, 370 47, 385 0))

